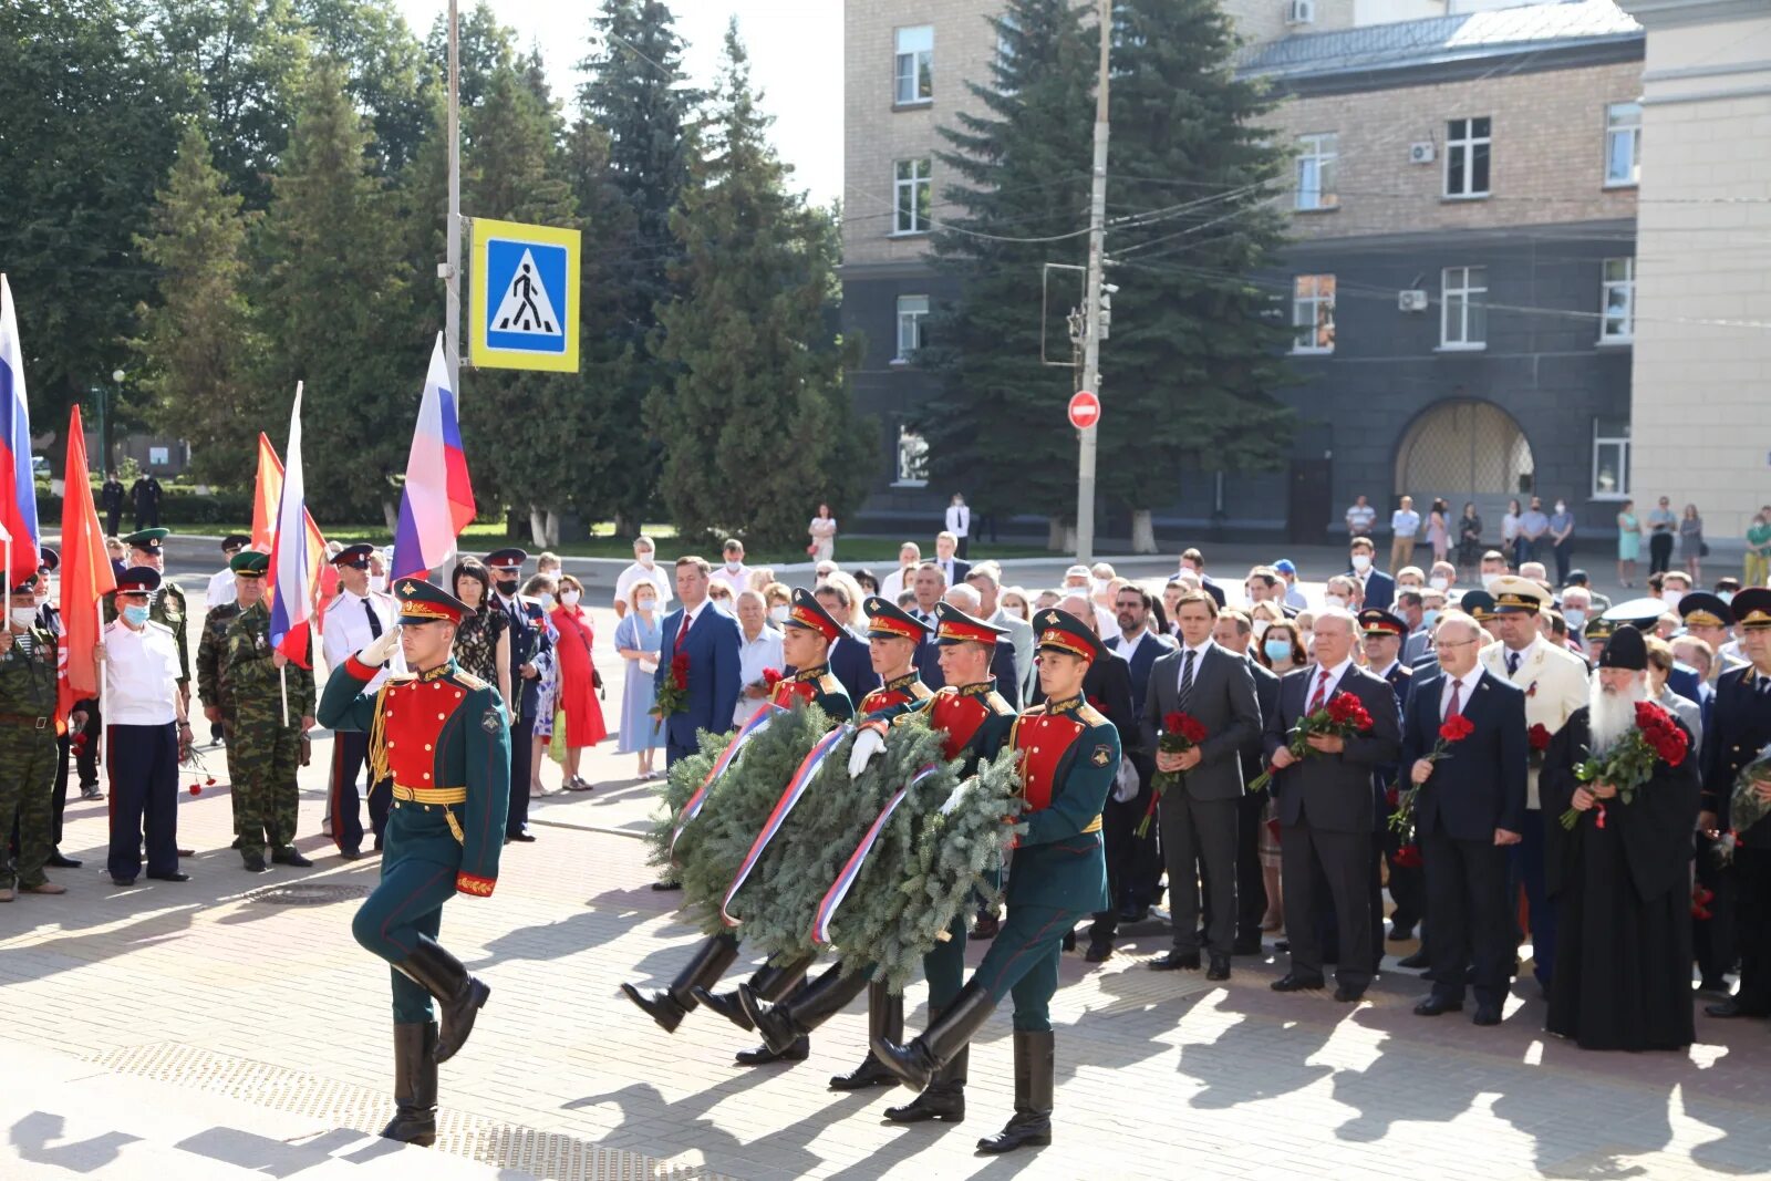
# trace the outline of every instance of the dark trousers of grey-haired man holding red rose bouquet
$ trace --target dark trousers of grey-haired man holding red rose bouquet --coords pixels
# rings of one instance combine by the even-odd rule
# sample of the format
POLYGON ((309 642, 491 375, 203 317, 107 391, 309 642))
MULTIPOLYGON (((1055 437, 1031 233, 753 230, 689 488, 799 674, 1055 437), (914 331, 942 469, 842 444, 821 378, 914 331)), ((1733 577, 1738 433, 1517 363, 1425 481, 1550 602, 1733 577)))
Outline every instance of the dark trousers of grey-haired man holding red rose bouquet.
POLYGON ((1309 822, 1288 825, 1279 841, 1280 873, 1286 882, 1286 935, 1291 940, 1291 972, 1323 974, 1323 949, 1316 935, 1318 866, 1334 901, 1339 961, 1335 979, 1348 988, 1371 983, 1371 832, 1325 832, 1309 822))

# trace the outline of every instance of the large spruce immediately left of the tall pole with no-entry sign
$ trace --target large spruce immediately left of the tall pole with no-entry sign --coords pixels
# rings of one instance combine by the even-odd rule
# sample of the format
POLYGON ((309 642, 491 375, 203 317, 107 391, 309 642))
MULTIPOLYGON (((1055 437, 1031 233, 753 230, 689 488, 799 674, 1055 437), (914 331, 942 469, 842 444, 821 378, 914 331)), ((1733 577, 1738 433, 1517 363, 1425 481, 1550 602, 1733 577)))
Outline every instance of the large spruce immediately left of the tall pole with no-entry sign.
MULTIPOLYGON (((937 303, 919 359, 942 397, 919 413, 930 476, 979 513, 1075 512, 1075 434, 1064 405, 1075 372, 1040 359, 1041 267, 1087 257, 1091 112, 1096 55, 1070 0, 1009 0, 995 21, 1004 53, 981 103, 942 127, 942 223, 933 266, 958 297, 937 303), (1043 473, 1029 478, 1029 473, 1043 473)), ((1063 315, 1080 303, 1077 271, 1054 271, 1048 358, 1068 359, 1063 315)))

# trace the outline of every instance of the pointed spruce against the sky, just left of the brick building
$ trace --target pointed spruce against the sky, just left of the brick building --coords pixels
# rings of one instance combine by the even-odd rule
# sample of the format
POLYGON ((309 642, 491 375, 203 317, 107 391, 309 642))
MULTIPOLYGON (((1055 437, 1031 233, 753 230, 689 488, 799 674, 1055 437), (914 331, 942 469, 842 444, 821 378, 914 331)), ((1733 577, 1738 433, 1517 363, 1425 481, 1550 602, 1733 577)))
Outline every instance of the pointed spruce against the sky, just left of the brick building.
POLYGON ((827 315, 836 235, 825 212, 786 191, 735 25, 724 53, 707 156, 671 214, 684 294, 659 308, 655 356, 671 381, 652 391, 648 421, 684 533, 804 544, 818 501, 841 515, 864 480, 827 315))

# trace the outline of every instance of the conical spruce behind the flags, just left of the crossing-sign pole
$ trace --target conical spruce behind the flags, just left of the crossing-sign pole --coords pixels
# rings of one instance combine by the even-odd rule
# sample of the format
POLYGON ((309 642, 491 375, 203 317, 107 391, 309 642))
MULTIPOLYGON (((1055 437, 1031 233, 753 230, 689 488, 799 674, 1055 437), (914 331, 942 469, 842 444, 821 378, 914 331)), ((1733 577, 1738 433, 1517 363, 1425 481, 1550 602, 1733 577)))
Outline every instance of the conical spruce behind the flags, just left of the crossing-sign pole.
MULTIPOLYGON (((280 437, 306 382, 308 503, 324 519, 391 512, 421 388, 393 204, 344 66, 308 69, 262 235, 259 329, 269 342, 257 423, 280 437)), ((248 446, 250 439, 243 441, 248 446)))

